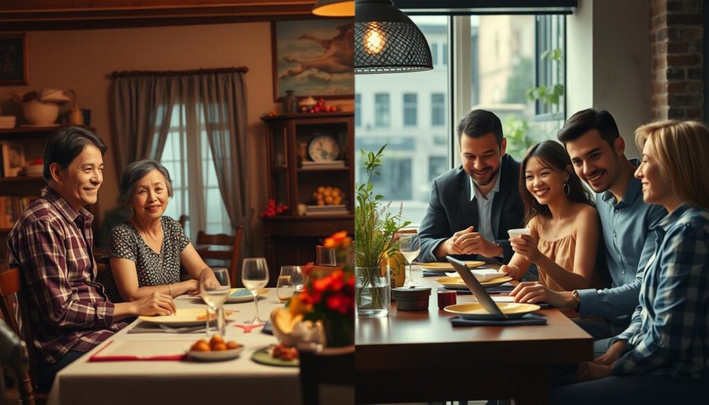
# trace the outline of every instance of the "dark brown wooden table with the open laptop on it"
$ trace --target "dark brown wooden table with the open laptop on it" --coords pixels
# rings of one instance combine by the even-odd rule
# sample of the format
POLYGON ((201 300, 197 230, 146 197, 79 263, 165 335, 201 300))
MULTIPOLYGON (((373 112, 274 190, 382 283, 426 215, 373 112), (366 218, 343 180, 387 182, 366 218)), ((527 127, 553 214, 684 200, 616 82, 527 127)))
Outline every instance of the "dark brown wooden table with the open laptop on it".
MULTIPOLYGON (((545 325, 452 326, 454 314, 437 306, 439 277, 422 277, 416 265, 412 271, 415 282, 432 289, 427 309, 398 311, 392 303, 386 317, 355 321, 357 404, 546 404, 553 376, 593 359, 591 335, 557 309, 536 312, 545 325)), ((471 294, 457 295, 458 304, 471 301, 471 294)))

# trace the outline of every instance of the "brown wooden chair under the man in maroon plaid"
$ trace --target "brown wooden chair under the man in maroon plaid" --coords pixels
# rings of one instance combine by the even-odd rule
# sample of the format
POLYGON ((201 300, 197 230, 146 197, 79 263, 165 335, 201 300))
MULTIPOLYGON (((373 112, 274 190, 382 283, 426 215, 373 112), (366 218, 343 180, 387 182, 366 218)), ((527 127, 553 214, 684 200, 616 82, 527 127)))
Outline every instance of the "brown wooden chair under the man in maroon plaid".
POLYGON ((17 267, 0 272, 0 311, 12 331, 22 338, 30 360, 29 370, 24 370, 17 375, 21 404, 45 404, 48 393, 34 391, 38 384, 37 370, 35 370, 38 357, 34 350, 22 284, 20 269, 17 267))

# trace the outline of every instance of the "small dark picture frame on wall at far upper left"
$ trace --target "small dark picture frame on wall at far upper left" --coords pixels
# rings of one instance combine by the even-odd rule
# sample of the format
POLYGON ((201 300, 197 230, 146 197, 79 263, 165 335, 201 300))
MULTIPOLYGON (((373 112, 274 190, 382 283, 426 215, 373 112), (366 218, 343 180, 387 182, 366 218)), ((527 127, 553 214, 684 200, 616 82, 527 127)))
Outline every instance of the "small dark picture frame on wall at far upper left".
POLYGON ((27 36, 0 35, 0 86, 29 84, 28 65, 27 36))

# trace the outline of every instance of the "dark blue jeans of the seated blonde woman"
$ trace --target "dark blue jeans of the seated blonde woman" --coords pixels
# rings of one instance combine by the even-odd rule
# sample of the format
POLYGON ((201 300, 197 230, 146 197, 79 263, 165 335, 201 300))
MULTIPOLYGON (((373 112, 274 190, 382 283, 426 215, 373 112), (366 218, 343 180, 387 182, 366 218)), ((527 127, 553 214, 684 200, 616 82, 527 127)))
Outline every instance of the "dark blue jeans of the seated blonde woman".
POLYGON ((613 375, 552 389, 553 405, 707 404, 709 379, 613 375))

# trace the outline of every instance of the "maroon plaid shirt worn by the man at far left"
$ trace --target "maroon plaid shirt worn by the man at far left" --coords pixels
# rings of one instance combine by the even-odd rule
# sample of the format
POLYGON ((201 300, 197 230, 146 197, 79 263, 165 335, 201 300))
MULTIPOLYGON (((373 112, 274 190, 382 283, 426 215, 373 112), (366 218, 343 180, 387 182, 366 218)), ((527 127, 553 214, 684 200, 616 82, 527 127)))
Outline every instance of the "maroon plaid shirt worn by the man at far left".
POLYGON ((48 363, 87 352, 126 323, 96 282, 94 216, 75 211, 50 187, 22 213, 8 236, 10 266, 24 274, 35 347, 48 363))

